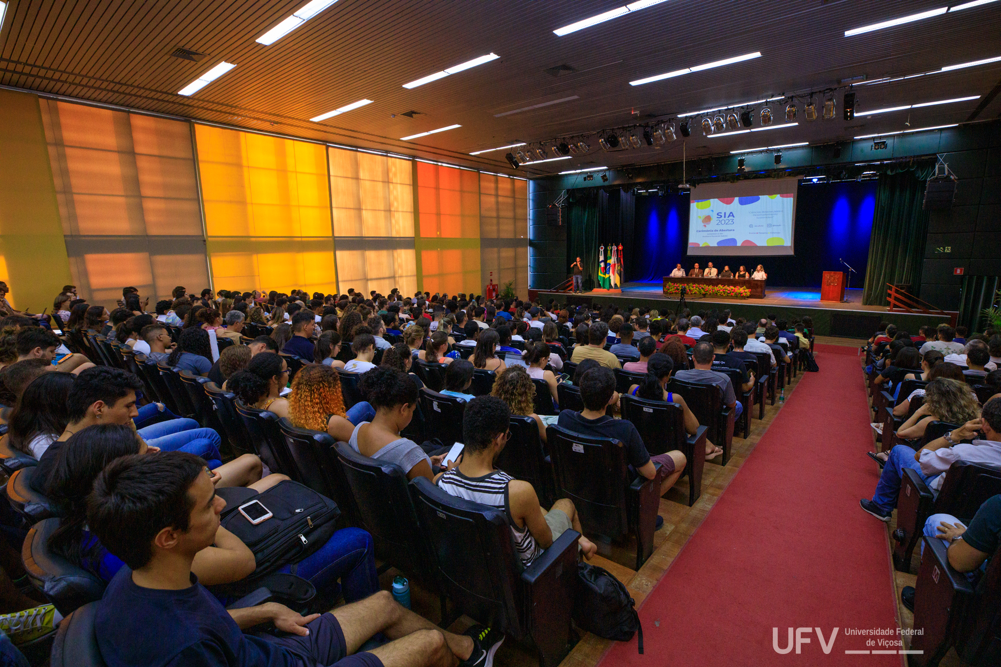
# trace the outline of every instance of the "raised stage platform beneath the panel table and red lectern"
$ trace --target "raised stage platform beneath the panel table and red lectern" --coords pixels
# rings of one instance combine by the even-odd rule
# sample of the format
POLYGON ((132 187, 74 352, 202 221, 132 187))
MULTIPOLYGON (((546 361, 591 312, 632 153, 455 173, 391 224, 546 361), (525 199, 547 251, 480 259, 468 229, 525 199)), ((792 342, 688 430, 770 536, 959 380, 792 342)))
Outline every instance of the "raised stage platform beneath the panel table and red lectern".
MULTIPOLYGON (((598 305, 615 304, 620 308, 646 307, 666 315, 678 310, 678 299, 665 296, 664 284, 658 282, 626 282, 621 294, 586 291, 575 294, 567 291, 531 290, 543 303, 555 298, 561 304, 598 305)), ((693 312, 729 308, 732 316, 748 320, 760 319, 767 314, 792 319, 809 315, 814 320, 815 333, 868 339, 879 327, 880 321, 890 321, 917 336, 923 324, 936 325, 949 321, 939 315, 888 312, 885 305, 863 305, 862 288, 845 290, 846 302, 821 301, 820 287, 782 287, 766 285, 764 298, 723 298, 707 296, 686 297, 686 305, 693 312)))

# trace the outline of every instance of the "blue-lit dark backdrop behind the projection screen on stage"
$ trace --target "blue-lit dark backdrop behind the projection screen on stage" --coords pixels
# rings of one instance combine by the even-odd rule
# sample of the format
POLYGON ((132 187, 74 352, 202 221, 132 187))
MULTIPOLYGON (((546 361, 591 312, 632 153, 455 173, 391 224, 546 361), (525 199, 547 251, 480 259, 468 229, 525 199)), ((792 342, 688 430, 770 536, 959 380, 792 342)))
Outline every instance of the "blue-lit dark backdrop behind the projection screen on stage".
MULTIPOLYGON (((724 264, 765 265, 769 284, 789 287, 818 287, 823 271, 845 270, 843 258, 858 271, 851 285, 865 280, 872 235, 876 181, 800 185, 796 198, 796 254, 777 257, 699 256, 700 265, 712 261, 724 264)), ((627 250, 627 280, 660 282, 675 263, 691 268, 696 258, 685 255, 688 245, 688 194, 636 198, 635 247, 627 250)), ((751 267, 749 267, 751 268, 751 267)))

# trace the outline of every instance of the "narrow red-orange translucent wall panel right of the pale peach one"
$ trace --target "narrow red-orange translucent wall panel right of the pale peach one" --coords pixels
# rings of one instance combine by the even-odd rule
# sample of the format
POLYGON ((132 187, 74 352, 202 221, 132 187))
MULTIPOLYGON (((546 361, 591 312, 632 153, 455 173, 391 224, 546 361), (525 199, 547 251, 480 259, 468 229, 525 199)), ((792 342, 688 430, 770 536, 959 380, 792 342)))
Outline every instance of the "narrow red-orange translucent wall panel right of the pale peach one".
POLYGON ((482 293, 479 265, 479 174, 415 162, 418 288, 482 293))

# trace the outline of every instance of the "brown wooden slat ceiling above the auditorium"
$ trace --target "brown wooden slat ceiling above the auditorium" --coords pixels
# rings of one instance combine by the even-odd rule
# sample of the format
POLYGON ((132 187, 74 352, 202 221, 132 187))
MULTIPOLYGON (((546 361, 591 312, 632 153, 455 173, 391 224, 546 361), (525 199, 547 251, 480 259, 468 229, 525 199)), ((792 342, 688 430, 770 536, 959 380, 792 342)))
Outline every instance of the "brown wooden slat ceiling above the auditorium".
MULTIPOLYGON (((11 0, 0 26, 0 84, 514 173, 505 151, 468 153, 802 95, 849 77, 873 80, 1001 56, 1001 2, 845 37, 847 29, 950 3, 670 0, 564 37, 553 33, 624 2, 339 0, 263 46, 254 40, 304 0, 11 0), (206 55, 199 62, 182 60, 170 55, 177 47, 206 55), (500 58, 414 89, 402 87, 491 51, 500 58), (763 56, 647 85, 628 83, 753 51, 763 56), (191 97, 176 94, 222 60, 237 67, 191 97), (575 71, 559 77, 545 71, 560 65, 575 71), (374 102, 322 123, 308 120, 362 98, 374 102), (418 113, 401 115, 411 110, 418 113), (462 127, 399 140, 452 123, 462 127)), ((848 122, 841 114, 843 90, 836 93, 832 121, 805 122, 800 98, 799 126, 718 138, 694 131, 688 154, 907 129, 908 115, 911 128, 963 122, 981 100, 910 114, 866 117, 864 109, 986 96, 998 85, 1001 62, 859 86, 860 112, 848 122)), ((816 99, 822 102, 823 95, 816 99)), ((785 104, 773 106, 777 123, 783 122, 785 104)), ((999 115, 1001 95, 975 119, 999 115)), ((657 150, 614 153, 601 151, 597 136, 587 140, 588 155, 518 173, 661 162, 681 154, 681 140, 657 150)))

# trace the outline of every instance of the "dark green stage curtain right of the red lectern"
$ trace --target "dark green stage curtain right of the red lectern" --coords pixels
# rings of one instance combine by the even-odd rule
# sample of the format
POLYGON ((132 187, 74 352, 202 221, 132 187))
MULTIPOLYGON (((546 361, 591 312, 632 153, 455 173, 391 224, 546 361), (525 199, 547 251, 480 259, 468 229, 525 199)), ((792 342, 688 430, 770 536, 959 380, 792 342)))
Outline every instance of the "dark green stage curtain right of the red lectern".
POLYGON ((862 292, 864 305, 886 305, 887 283, 914 285, 920 282, 928 235, 928 212, 922 208, 923 175, 907 170, 879 177, 866 284, 862 292))

